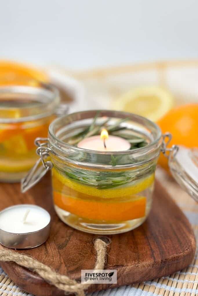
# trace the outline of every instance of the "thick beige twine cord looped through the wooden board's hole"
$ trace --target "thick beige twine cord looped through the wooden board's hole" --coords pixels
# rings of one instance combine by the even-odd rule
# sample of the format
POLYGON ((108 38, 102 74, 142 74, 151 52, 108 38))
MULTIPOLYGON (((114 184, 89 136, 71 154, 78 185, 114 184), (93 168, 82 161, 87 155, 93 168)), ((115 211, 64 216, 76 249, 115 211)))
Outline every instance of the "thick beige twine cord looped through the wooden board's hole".
MULTIPOLYGON (((97 253, 94 270, 104 269, 107 243, 104 242, 102 239, 96 239, 94 242, 94 247, 97 253)), ((26 267, 36 272, 45 281, 54 285, 58 289, 64 290, 68 293, 75 293, 78 296, 84 296, 84 290, 91 285, 90 283, 78 283, 77 281, 70 279, 68 276, 59 274, 58 272, 54 271, 52 268, 39 262, 38 260, 17 252, 0 250, 0 261, 13 261, 20 266, 26 267)))

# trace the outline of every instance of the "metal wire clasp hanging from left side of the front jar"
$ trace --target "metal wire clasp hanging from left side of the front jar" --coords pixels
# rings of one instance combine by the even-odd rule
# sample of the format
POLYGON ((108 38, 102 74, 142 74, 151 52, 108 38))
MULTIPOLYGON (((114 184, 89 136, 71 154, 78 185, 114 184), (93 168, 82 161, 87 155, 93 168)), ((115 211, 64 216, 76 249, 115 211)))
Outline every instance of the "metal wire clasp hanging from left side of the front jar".
POLYGON ((49 152, 51 149, 46 147, 48 139, 47 138, 36 138, 35 144, 38 146, 36 153, 40 156, 33 168, 28 172, 28 174, 21 179, 21 192, 26 192, 28 189, 37 184, 41 178, 53 167, 51 161, 47 160, 49 152), (45 141, 42 143, 42 141, 45 141), (47 161, 46 161, 47 160, 47 161))

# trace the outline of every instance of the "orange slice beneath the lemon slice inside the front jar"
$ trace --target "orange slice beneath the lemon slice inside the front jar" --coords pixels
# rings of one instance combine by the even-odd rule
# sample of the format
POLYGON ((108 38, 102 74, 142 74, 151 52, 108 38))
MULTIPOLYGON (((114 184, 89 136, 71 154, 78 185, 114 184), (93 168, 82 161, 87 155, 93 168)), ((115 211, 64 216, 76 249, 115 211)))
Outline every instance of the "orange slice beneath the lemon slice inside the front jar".
POLYGON ((81 218, 103 221, 126 221, 145 216, 146 197, 136 196, 127 201, 82 200, 58 192, 54 203, 63 210, 81 218))

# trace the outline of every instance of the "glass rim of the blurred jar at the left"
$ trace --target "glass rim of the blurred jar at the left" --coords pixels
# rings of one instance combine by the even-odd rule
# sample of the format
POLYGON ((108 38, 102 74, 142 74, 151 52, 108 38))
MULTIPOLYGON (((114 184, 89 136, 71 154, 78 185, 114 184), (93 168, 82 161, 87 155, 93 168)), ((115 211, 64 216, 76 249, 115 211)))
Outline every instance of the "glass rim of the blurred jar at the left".
POLYGON ((18 123, 48 117, 55 112, 60 103, 58 89, 47 83, 39 83, 39 86, 0 86, 0 102, 2 98, 10 97, 13 98, 13 101, 23 97, 27 102, 31 97, 37 104, 19 107, 0 106, 0 123, 18 123), (13 112, 9 112, 11 110, 13 112), (20 112, 20 116, 13 116, 14 111, 17 110, 20 112))

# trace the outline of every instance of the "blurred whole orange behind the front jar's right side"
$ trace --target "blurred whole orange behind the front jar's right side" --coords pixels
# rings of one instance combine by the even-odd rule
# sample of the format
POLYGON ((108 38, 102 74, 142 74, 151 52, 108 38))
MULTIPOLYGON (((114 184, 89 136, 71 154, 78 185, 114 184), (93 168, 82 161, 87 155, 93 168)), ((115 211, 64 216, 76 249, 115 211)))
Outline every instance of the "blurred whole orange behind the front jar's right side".
MULTIPOLYGON (((173 144, 198 147, 198 104, 188 104, 171 109, 157 124, 162 133, 170 132, 173 144)), ((169 171, 167 158, 160 153, 159 164, 169 171)))

